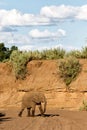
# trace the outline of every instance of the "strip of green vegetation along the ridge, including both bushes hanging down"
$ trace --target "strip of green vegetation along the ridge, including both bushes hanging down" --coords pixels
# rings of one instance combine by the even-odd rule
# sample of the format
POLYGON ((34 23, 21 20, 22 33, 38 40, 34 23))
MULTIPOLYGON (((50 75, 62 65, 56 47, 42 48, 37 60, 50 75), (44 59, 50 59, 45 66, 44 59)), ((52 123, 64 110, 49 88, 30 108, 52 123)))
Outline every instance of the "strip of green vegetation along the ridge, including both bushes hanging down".
POLYGON ((43 51, 20 51, 17 47, 6 48, 4 43, 0 43, 0 61, 10 61, 16 79, 24 79, 27 74, 27 63, 30 60, 53 60, 62 59, 59 70, 60 76, 67 86, 76 78, 81 71, 79 58, 87 58, 87 47, 79 50, 66 52, 64 49, 54 48, 43 51), (71 57, 71 59, 70 59, 71 57))

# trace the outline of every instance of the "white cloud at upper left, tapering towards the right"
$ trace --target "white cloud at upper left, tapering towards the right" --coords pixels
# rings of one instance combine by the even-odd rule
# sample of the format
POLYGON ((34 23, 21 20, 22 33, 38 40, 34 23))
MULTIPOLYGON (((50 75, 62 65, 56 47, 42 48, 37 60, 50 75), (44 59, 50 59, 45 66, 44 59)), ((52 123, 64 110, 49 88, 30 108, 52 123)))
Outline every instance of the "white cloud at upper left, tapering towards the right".
POLYGON ((22 14, 16 9, 0 10, 0 26, 47 25, 49 22, 49 18, 34 14, 22 14))

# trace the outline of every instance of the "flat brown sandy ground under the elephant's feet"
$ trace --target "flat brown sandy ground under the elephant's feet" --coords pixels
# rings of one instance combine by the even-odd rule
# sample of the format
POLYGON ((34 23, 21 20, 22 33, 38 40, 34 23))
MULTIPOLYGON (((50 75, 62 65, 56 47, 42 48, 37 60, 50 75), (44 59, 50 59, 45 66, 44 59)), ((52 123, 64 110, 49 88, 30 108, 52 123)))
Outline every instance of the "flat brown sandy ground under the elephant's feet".
POLYGON ((47 110, 45 117, 36 112, 35 117, 18 117, 19 108, 9 108, 0 117, 0 130, 87 130, 86 111, 47 110))

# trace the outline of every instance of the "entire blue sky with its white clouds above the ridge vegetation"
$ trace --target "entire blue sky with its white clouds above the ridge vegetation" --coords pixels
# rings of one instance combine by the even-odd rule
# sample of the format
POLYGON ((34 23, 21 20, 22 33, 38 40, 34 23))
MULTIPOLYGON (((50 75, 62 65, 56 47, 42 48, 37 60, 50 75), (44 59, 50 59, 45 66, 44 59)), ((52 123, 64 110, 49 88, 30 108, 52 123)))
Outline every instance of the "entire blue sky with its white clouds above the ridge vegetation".
POLYGON ((0 42, 20 50, 87 45, 87 0, 0 0, 0 42))

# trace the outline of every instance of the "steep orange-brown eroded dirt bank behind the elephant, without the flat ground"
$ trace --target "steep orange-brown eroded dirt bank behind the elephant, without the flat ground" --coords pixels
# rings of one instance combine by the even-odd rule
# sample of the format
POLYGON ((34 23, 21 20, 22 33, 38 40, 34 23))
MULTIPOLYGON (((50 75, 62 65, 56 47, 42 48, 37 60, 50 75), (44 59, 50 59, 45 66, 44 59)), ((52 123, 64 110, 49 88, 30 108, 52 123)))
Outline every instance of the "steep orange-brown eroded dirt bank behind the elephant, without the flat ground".
POLYGON ((0 107, 20 106, 24 92, 20 89, 43 91, 48 100, 48 107, 79 109, 87 99, 87 60, 80 60, 82 72, 70 85, 71 92, 66 92, 65 84, 59 78, 57 60, 37 60, 28 63, 28 75, 24 80, 15 81, 11 68, 0 63, 0 107))

